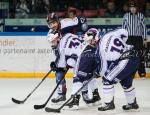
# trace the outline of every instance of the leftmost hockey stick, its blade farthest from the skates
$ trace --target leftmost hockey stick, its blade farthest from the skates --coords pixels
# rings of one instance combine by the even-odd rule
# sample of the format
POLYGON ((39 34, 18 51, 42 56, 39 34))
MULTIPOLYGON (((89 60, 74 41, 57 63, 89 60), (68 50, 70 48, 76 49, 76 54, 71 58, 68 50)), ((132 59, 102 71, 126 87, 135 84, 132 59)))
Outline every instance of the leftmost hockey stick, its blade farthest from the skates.
POLYGON ((42 81, 31 91, 31 93, 28 94, 28 96, 24 100, 17 100, 15 98, 12 98, 12 101, 16 104, 23 104, 31 95, 32 93, 41 85, 41 83, 47 78, 47 76, 51 73, 52 70, 49 70, 49 72, 44 76, 42 81))

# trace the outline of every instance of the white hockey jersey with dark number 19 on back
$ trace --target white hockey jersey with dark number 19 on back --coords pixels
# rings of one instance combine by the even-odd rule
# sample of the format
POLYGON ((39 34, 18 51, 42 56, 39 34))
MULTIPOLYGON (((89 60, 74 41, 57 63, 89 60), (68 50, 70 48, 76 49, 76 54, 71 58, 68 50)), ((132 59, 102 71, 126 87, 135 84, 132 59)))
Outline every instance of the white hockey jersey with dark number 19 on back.
POLYGON ((128 33, 124 29, 116 29, 105 34, 99 44, 98 52, 100 58, 100 74, 104 75, 107 70, 108 61, 118 60, 123 52, 129 50, 131 46, 126 44, 128 33))

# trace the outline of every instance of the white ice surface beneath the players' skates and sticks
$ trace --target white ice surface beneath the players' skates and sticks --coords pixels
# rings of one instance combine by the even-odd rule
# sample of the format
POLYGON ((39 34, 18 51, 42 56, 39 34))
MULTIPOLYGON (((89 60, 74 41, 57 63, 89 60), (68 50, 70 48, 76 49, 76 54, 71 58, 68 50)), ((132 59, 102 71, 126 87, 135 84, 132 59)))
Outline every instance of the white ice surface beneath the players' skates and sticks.
MULTIPOLYGON (((44 109, 34 110, 33 105, 43 104, 49 97, 51 91, 55 87, 55 79, 46 79, 36 92, 22 105, 17 105, 11 101, 14 97, 18 100, 23 100, 41 81, 37 79, 0 79, 0 115, 150 115, 150 79, 134 80, 136 88, 137 102, 140 106, 139 112, 125 112, 122 110, 122 105, 126 104, 126 99, 120 84, 115 85, 115 106, 114 111, 98 112, 98 106, 88 107, 80 100, 80 109, 76 111, 62 110, 61 113, 47 113, 44 109)), ((99 92, 102 95, 102 83, 99 81, 99 92)), ((72 79, 67 79, 68 92, 67 97, 70 97, 72 79)), ((51 102, 47 107, 57 108, 60 105, 52 105, 51 102)))

